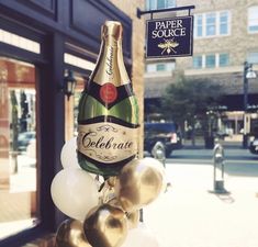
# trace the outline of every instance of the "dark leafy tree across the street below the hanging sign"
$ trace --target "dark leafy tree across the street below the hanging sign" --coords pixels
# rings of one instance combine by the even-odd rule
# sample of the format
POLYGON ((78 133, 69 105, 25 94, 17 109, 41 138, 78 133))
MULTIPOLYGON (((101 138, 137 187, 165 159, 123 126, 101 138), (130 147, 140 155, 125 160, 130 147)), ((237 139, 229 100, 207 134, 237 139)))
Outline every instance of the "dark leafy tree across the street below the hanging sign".
MULTIPOLYGON (((192 130, 192 142, 195 139, 197 122, 201 123, 204 133, 211 131, 209 123, 214 116, 212 109, 220 105, 222 89, 211 79, 194 79, 180 76, 170 85, 161 100, 162 114, 177 122, 184 130, 184 122, 192 130), (210 113, 210 114, 207 114, 210 113)), ((211 135, 212 133, 206 133, 211 135)))

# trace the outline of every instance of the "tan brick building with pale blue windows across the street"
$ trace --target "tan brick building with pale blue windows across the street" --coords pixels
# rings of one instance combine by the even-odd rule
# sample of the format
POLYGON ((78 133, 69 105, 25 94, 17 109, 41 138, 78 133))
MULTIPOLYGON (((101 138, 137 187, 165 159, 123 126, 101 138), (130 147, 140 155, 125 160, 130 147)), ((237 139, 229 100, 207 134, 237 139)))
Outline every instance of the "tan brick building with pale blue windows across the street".
MULTIPOLYGON (((258 79, 246 77, 247 70, 258 70, 258 1, 245 0, 236 4, 234 0, 177 0, 177 7, 192 4, 195 5, 191 11, 194 15, 193 56, 176 58, 173 69, 167 71, 170 77, 164 72, 160 78, 153 77, 147 70, 145 83, 149 81, 154 86, 146 90, 145 102, 160 98, 162 91, 156 90, 157 87, 166 90, 177 72, 189 78, 209 78, 224 92, 222 106, 227 120, 218 127, 229 128, 234 134, 248 134, 257 121, 258 79)), ((160 63, 166 67, 167 63, 160 63)))

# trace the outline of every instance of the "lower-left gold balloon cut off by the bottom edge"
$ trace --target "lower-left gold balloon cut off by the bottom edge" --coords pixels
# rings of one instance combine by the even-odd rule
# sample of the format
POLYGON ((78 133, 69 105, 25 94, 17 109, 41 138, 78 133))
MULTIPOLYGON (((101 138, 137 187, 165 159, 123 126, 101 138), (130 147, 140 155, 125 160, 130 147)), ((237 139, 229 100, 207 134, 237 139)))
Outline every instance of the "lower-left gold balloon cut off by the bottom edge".
POLYGON ((91 247, 86 239, 82 223, 77 220, 64 221, 57 231, 55 247, 91 247))

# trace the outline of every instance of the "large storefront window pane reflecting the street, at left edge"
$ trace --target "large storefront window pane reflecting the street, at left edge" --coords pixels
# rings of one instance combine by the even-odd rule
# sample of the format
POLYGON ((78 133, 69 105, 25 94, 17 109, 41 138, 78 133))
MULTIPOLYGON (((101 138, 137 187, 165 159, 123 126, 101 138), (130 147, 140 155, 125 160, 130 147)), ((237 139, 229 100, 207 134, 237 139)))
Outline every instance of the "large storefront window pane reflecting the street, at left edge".
POLYGON ((0 57, 0 239, 40 222, 35 67, 0 57))

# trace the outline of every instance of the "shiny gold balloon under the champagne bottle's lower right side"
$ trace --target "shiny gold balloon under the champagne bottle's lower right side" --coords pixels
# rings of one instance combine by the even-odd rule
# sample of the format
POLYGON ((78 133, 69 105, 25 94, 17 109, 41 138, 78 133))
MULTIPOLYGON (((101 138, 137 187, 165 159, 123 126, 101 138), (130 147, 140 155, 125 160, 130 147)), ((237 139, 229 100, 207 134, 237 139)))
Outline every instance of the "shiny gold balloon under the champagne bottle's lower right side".
POLYGON ((125 165, 115 183, 115 195, 126 212, 153 202, 164 188, 165 170, 154 158, 135 159, 125 165))

